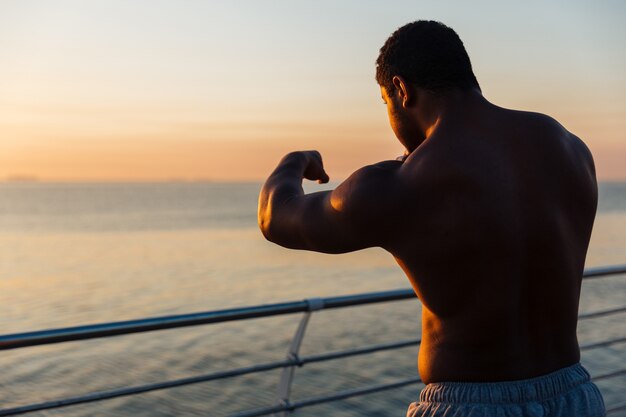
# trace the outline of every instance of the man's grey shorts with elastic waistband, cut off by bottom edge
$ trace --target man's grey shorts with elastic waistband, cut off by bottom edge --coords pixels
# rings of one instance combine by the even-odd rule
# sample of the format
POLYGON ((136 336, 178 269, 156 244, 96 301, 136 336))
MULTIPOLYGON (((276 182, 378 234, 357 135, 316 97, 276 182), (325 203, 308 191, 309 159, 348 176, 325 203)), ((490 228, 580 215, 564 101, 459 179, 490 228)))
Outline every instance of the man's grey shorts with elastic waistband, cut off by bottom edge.
POLYGON ((407 417, 602 417, 602 395, 582 365, 537 378, 428 384, 407 417))

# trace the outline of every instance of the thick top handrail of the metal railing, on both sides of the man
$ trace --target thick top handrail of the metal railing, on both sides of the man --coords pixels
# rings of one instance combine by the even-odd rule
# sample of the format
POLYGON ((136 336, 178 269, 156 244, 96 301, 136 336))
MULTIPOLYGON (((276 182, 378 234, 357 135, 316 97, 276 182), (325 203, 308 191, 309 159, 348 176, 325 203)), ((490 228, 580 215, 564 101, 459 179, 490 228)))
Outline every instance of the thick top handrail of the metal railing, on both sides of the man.
MULTIPOLYGON (((594 278, 621 273, 626 273, 626 265, 588 268, 585 270, 583 278, 594 278)), ((328 297, 317 301, 318 304, 321 303, 322 309, 332 309, 405 300, 414 297, 415 293, 412 289, 399 289, 375 293, 328 297)), ((302 300, 279 304, 267 304, 226 310, 16 333, 0 336, 0 350, 292 314, 309 311, 311 307, 311 304, 307 300, 302 300)))

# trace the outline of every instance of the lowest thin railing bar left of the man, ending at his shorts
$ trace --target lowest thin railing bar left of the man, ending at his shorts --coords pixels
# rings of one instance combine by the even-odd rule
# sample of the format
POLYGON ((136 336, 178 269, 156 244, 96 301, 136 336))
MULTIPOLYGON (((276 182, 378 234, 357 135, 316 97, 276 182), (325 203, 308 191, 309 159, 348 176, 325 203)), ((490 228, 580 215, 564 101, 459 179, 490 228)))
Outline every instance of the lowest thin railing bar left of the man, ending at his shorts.
POLYGON ((301 401, 296 401, 290 404, 276 405, 265 408, 257 408, 256 410, 244 411, 237 414, 231 414, 229 417, 257 417, 266 416, 273 413, 279 413, 282 411, 294 411, 299 408, 310 407, 312 405, 323 404, 332 401, 345 400, 350 397, 357 397, 360 395, 373 394, 375 392, 386 391, 394 388, 400 388, 406 385, 412 385, 422 382, 420 378, 413 377, 403 379, 401 381, 392 382, 388 384, 370 385, 363 388, 355 388, 351 390, 340 391, 332 395, 324 395, 319 397, 307 398, 301 401))

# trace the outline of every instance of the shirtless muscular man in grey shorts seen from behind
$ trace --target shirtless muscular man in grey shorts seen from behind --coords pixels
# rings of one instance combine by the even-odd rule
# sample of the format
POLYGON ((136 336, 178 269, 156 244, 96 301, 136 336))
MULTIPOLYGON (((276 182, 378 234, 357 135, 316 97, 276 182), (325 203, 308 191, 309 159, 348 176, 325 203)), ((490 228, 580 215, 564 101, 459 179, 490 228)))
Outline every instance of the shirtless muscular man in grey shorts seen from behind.
POLYGON ((305 195, 303 178, 329 180, 322 158, 286 155, 261 190, 263 234, 394 256, 423 304, 427 385, 408 416, 604 415, 576 338, 597 204, 589 150, 546 115, 487 101, 439 22, 398 29, 376 64, 405 158, 305 195))

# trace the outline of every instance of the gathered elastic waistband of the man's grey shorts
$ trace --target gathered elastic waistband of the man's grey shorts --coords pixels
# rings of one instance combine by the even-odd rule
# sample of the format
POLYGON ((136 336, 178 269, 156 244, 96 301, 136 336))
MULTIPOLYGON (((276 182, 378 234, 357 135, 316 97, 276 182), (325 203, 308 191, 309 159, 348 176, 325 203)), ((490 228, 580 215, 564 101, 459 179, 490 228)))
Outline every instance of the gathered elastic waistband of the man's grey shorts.
POLYGON ((435 382, 426 385, 420 401, 441 403, 524 403, 561 395, 589 382, 580 364, 530 379, 502 382, 435 382))

